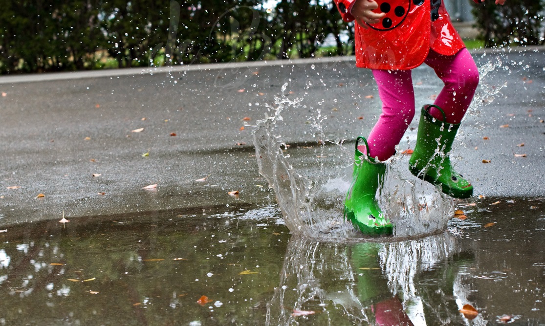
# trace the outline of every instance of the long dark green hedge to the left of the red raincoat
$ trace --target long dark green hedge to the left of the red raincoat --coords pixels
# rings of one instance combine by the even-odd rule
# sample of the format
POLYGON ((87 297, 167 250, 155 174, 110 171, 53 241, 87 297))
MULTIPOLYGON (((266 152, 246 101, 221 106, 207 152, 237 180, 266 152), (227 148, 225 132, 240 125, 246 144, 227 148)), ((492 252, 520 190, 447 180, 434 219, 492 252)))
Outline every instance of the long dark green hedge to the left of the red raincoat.
MULTIPOLYGON (((0 73, 313 57, 347 29, 334 3, 280 0, 6 2, 0 73)), ((346 32, 345 32, 346 33, 346 32)), ((348 33, 353 35, 351 27, 348 33)))

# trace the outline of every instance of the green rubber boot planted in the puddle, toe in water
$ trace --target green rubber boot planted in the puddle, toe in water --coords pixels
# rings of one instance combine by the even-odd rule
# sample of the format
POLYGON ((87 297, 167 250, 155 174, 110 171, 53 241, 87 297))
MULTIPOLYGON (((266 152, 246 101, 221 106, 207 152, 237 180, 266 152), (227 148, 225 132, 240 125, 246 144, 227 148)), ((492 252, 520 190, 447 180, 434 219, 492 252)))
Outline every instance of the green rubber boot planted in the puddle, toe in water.
POLYGON ((356 230, 364 234, 390 235, 393 233, 393 226, 384 217, 375 197, 377 190, 380 192, 384 184, 386 164, 360 152, 358 149, 360 140, 365 142, 367 153, 369 153, 367 140, 364 137, 358 137, 352 184, 344 200, 344 218, 351 221, 356 230))

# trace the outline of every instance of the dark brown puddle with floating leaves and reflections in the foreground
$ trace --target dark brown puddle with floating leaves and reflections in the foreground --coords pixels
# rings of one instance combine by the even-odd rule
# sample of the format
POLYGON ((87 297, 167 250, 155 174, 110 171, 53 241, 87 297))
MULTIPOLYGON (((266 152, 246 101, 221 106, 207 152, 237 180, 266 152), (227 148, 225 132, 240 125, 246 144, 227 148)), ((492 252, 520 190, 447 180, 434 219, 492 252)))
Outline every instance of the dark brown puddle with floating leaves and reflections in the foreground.
POLYGON ((9 227, 0 324, 545 324, 543 207, 458 203, 446 232, 391 243, 292 236, 276 205, 9 227))

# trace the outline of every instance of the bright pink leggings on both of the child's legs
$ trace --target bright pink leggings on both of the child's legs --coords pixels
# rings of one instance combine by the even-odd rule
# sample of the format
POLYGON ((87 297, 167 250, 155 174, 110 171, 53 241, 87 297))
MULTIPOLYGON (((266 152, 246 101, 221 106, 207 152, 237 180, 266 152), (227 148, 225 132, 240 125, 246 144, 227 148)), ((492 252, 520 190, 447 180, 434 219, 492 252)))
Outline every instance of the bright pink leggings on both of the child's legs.
MULTIPOLYGON (((430 50, 425 63, 445 83, 434 104, 445 111, 447 123, 460 123, 479 84, 479 70, 467 49, 456 55, 443 56, 430 50)), ((372 70, 378 94, 383 103, 382 114, 367 141, 370 154, 384 161, 395 154, 395 146, 414 118, 415 102, 411 70, 372 70)), ((439 110, 432 116, 443 120, 439 110)))

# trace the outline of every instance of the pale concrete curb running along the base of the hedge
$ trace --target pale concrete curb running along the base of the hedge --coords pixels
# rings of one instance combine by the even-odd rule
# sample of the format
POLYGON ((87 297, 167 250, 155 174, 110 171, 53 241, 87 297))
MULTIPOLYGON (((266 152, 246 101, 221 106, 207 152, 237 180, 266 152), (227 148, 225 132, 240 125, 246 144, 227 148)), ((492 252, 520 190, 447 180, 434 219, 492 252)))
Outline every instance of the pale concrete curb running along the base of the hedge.
MULTIPOLYGON (((474 55, 483 55, 485 53, 521 53, 521 52, 538 52, 545 51, 545 46, 526 46, 526 47, 509 47, 499 49, 479 49, 471 50, 474 55)), ((179 73, 183 71, 207 71, 221 69, 242 69, 242 68, 258 68, 258 67, 274 67, 281 65, 306 65, 306 64, 331 64, 354 62, 355 56, 345 57, 323 57, 310 59, 287 59, 287 60, 270 60, 270 61, 252 61, 252 62, 233 62, 233 63, 211 63, 211 64, 190 64, 190 65, 175 65, 170 67, 157 68, 123 68, 110 70, 92 70, 92 71, 71 71, 67 73, 45 73, 32 75, 16 75, 16 76, 1 76, 0 84, 24 83, 24 82, 44 82, 57 80, 71 79, 86 79, 99 77, 118 77, 118 76, 136 76, 136 75, 152 75, 161 73, 179 73)))

